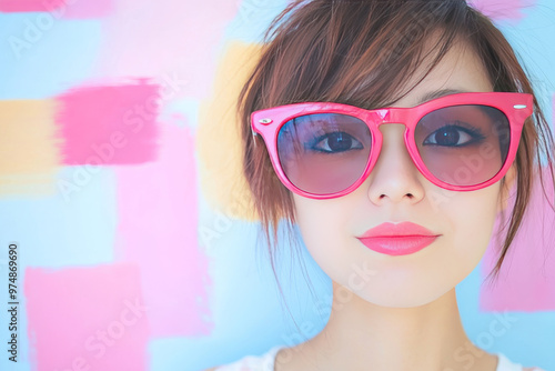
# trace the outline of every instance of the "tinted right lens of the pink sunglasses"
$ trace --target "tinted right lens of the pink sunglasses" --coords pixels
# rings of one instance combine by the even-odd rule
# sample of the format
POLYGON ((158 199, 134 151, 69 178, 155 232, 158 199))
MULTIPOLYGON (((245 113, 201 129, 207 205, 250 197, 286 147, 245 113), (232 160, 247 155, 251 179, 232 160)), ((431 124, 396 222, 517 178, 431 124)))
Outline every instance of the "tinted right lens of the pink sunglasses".
POLYGON ((497 174, 507 159, 511 127, 487 106, 454 106, 427 113, 415 129, 426 168, 453 186, 476 186, 497 174))

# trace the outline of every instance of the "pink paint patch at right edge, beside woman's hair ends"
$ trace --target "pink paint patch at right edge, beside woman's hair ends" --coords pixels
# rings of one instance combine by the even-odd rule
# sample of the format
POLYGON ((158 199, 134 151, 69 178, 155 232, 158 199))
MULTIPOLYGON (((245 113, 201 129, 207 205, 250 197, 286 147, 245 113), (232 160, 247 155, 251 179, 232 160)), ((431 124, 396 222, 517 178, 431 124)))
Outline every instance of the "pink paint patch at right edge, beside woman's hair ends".
MULTIPOLYGON (((549 200, 554 202, 551 173, 543 171, 549 200)), ((514 200, 513 200, 514 201, 514 200)), ((509 209, 511 210, 511 209, 509 209)), ((533 188, 522 230, 511 245, 503 262, 500 277, 494 284, 481 288, 481 309, 484 311, 547 311, 555 310, 555 212, 543 197, 539 179, 533 188)), ((498 222, 496 229, 498 229, 498 222)), ((497 261, 501 242, 492 243, 482 264, 485 278, 497 261)), ((490 281, 488 281, 490 282, 490 281)))

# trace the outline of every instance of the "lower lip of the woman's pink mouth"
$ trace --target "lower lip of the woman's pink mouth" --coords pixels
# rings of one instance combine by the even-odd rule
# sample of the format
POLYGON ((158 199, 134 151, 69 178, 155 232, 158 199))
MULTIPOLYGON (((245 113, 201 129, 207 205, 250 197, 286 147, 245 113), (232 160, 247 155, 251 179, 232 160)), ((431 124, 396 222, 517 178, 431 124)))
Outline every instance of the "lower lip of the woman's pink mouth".
POLYGON ((438 235, 360 237, 369 249, 389 255, 406 255, 430 245, 438 235))

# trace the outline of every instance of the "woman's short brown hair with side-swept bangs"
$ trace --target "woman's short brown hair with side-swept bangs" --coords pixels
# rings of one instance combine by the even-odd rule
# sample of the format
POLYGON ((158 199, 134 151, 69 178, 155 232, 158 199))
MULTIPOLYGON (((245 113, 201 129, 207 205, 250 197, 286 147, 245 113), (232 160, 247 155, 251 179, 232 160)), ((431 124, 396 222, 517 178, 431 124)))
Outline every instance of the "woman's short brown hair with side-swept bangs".
MULTIPOLYGON (((254 143, 250 113, 303 101, 387 107, 422 81, 457 40, 481 58, 494 91, 533 93, 505 37, 464 0, 297 0, 274 19, 264 36, 261 59, 239 99, 244 174, 269 242, 274 273, 275 243, 270 241, 275 242, 282 219, 292 230, 293 201, 276 178, 263 142, 254 143), (430 40, 436 40, 432 49, 425 48, 430 40), (426 73, 416 77, 414 86, 398 91, 431 57, 426 73)), ((553 150, 553 133, 534 98, 534 114, 524 126, 515 160, 516 199, 493 270, 495 278, 531 198, 534 159, 541 168, 545 156, 549 183, 555 184, 553 150)), ((539 176, 545 194, 542 172, 539 176)))

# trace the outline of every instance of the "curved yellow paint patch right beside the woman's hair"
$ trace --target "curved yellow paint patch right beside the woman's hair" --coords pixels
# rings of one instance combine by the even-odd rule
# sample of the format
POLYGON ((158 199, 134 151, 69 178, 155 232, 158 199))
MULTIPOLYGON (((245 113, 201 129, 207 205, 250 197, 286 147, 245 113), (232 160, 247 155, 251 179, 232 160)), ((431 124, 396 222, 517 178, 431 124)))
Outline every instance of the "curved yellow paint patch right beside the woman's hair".
POLYGON ((235 103, 260 51, 260 46, 240 41, 228 46, 213 94, 200 106, 196 140, 201 187, 209 203, 228 215, 251 221, 258 217, 242 172, 235 103))

